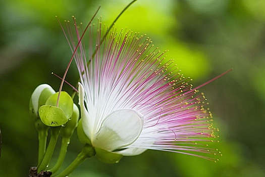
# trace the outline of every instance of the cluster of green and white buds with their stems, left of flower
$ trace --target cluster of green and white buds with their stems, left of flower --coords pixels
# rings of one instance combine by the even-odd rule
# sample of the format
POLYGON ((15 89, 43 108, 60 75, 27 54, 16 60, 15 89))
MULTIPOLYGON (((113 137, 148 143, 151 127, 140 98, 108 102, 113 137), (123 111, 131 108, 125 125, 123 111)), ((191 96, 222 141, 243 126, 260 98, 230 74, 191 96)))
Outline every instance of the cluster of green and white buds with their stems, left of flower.
POLYGON ((70 139, 78 124, 79 109, 70 95, 66 92, 61 92, 57 106, 58 95, 59 93, 56 93, 48 84, 41 84, 36 87, 30 98, 29 112, 34 119, 35 127, 39 134, 39 170, 45 170, 49 163, 59 134, 62 137, 62 153, 60 153, 58 163, 52 170, 57 171, 60 168, 70 139), (46 148, 49 128, 51 128, 50 142, 46 148))

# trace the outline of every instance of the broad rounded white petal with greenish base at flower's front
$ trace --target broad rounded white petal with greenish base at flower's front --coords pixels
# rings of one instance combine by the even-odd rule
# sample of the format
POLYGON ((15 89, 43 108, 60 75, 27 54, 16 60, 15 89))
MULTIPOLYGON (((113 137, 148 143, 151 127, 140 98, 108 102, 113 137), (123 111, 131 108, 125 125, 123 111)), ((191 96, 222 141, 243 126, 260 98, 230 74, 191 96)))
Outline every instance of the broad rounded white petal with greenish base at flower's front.
POLYGON ((92 138, 92 145, 113 151, 132 144, 143 128, 143 116, 133 109, 121 109, 109 114, 92 138))

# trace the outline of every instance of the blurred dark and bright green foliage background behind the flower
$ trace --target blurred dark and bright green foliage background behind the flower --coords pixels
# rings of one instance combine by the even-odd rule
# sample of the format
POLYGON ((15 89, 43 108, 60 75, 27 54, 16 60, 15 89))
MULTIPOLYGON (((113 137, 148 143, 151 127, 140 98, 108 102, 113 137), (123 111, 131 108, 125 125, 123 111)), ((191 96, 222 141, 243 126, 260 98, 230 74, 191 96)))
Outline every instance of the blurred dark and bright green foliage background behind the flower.
MULTIPOLYGON (((56 20, 74 15, 85 24, 98 5, 107 25, 130 0, 0 1, 0 127, 3 138, 0 176, 27 176, 37 164, 37 133, 28 115, 35 87, 48 83, 56 91, 71 57, 56 20)), ((161 50, 169 49, 182 73, 204 86, 219 127, 223 156, 217 163, 178 153, 151 151, 124 157, 117 164, 87 159, 69 176, 265 176, 265 1, 139 0, 116 27, 147 34, 161 50)), ((67 81, 75 84, 73 63, 67 81)), ((64 90, 71 93, 65 84, 64 90)), ((76 102, 77 100, 75 100, 76 102)), ((59 143, 60 145, 60 143, 59 143)), ((76 133, 64 166, 81 150, 76 133)), ((58 149, 56 150, 58 153, 58 149)))

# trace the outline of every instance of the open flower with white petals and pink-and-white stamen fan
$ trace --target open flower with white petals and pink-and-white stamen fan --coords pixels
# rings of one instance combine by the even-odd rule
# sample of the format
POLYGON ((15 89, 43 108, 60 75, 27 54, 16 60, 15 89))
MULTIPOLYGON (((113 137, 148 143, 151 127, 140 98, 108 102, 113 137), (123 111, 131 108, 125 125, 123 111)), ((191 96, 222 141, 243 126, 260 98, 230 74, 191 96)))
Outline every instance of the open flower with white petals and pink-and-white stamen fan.
MULTIPOLYGON (((75 29, 66 26, 75 51, 72 31, 80 40, 80 28, 76 22, 75 29)), ((167 51, 132 31, 113 29, 104 36, 109 29, 101 22, 94 42, 93 30, 89 26, 88 42, 82 39, 74 53, 82 126, 92 146, 124 156, 152 149, 216 160, 206 156, 219 153, 205 144, 213 142, 208 138, 216 131, 211 113, 203 108, 205 97, 192 89, 192 79, 170 69, 174 61, 165 62, 167 51)))

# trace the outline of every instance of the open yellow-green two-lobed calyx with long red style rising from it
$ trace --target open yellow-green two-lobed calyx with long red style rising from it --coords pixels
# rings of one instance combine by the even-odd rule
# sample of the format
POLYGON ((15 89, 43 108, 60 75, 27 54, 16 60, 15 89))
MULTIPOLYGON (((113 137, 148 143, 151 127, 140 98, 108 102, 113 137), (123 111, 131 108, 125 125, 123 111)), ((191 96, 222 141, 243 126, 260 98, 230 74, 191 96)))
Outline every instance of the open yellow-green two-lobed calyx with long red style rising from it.
POLYGON ((62 92, 58 107, 57 98, 58 93, 51 95, 45 105, 39 108, 39 117, 45 125, 61 126, 72 117, 74 102, 70 95, 62 92))

